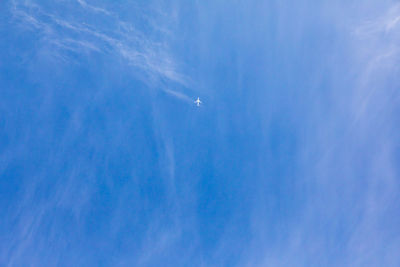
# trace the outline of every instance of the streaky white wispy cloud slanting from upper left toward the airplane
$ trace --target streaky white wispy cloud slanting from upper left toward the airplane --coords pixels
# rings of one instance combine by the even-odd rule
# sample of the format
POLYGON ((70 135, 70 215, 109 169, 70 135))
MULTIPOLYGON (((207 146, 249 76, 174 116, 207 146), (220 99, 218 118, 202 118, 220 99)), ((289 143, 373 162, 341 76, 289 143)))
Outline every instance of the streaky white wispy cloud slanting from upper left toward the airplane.
MULTIPOLYGON (((88 12, 102 16, 109 25, 99 27, 85 22, 84 18, 80 17, 66 19, 65 16, 42 7, 33 0, 14 0, 12 12, 23 27, 34 27, 42 33, 43 42, 58 47, 57 51, 52 53, 62 53, 65 50, 75 53, 115 53, 128 65, 146 73, 148 79, 168 79, 187 86, 187 78, 179 72, 179 64, 170 54, 167 41, 162 36, 163 32, 168 30, 162 31, 162 26, 158 26, 158 29, 155 29, 157 38, 152 38, 138 30, 133 23, 120 19, 111 11, 89 5, 83 0, 79 0, 78 3, 88 12)), ((152 22, 151 25, 159 25, 156 22, 157 18, 147 20, 152 22)))

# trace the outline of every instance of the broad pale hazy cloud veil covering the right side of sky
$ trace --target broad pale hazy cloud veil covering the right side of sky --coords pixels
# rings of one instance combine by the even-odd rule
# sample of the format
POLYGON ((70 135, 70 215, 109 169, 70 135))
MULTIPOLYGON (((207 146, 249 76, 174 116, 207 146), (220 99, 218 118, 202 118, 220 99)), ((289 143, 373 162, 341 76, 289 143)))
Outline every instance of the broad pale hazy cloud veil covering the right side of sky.
MULTIPOLYGON (((253 243, 243 255, 242 266, 400 263, 395 252, 400 247, 395 226, 400 190, 400 6, 395 3, 377 12, 374 7, 381 6, 378 2, 364 4, 363 12, 355 9, 347 13, 342 7, 319 21, 319 30, 334 29, 330 34, 341 45, 327 46, 335 60, 327 60, 329 55, 323 54, 315 68, 310 66, 307 77, 326 80, 307 84, 305 90, 313 97, 299 98, 306 111, 291 115, 301 121, 290 128, 296 136, 296 151, 301 153, 295 163, 285 162, 285 166, 293 164, 290 168, 294 171, 287 178, 290 184, 281 185, 284 195, 279 194, 282 187, 277 193, 260 189, 262 197, 253 207, 253 243), (319 67, 329 71, 321 74, 319 67), (288 198, 299 199, 295 211, 285 205, 288 198), (274 213, 274 208, 279 211, 274 213)), ((274 11, 277 17, 285 12, 274 11)), ((308 12, 320 10, 315 6, 308 12)), ((315 27, 306 26, 295 30, 307 34, 315 27)), ((309 40, 299 43, 302 41, 309 40)), ((271 122, 266 121, 265 132, 273 131, 271 122)), ((273 164, 271 161, 268 164, 273 164)), ((262 175, 277 179, 269 178, 268 171, 262 175)))

